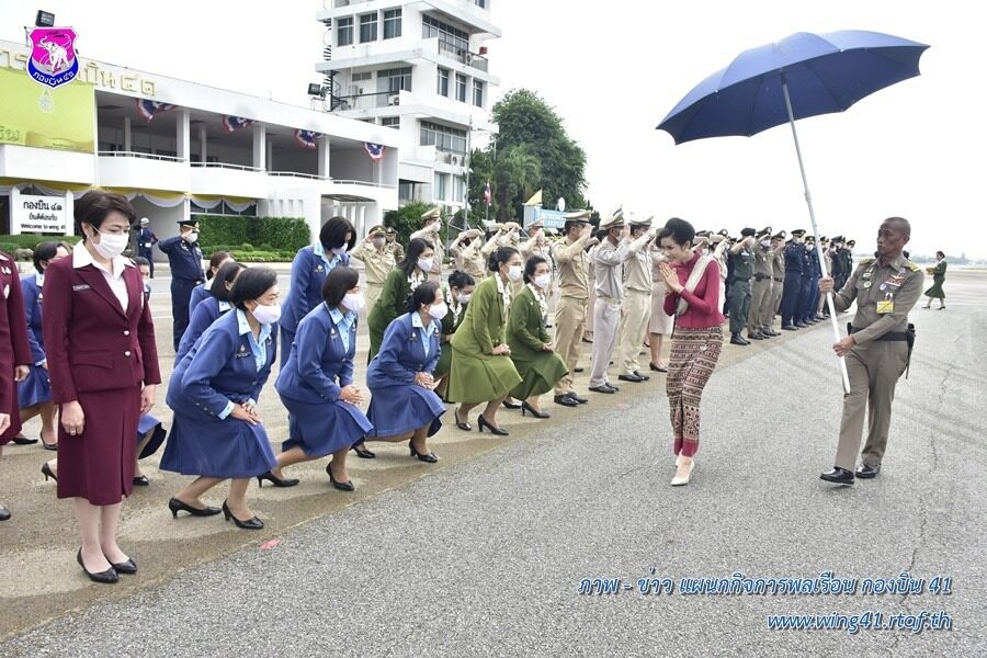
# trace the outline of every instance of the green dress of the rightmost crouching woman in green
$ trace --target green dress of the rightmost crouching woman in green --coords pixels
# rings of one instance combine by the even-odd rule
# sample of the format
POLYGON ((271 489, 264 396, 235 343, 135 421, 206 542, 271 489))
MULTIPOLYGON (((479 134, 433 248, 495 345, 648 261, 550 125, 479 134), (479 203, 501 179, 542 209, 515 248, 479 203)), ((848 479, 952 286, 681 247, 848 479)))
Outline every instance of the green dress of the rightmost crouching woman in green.
POLYGON ((521 288, 511 302, 507 339, 511 361, 522 379, 511 390, 512 398, 524 400, 548 393, 569 372, 558 354, 542 349, 552 340, 545 331, 545 318, 538 300, 527 286, 521 288))

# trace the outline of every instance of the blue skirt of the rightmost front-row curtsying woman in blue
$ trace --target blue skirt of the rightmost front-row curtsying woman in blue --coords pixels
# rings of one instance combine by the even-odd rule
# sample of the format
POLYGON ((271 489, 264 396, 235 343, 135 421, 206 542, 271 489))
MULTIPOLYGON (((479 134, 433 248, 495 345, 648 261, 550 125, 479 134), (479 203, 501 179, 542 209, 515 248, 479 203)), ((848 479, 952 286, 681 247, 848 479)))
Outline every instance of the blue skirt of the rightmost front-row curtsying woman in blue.
POLYGON ((396 436, 431 423, 429 436, 442 427, 439 418, 445 405, 435 392, 417 384, 370 387, 371 406, 366 417, 374 429, 370 436, 396 436))

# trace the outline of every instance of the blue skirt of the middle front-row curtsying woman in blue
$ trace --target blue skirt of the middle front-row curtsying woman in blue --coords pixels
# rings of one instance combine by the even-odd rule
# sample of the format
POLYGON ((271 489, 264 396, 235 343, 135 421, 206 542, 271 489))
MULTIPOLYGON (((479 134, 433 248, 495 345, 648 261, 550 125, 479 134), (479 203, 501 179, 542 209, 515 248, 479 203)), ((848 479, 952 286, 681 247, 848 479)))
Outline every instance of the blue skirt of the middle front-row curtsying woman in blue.
POLYGON ((281 396, 288 410, 288 439, 281 444, 287 452, 300 447, 309 457, 321 457, 350 447, 374 429, 360 407, 343 401, 302 402, 281 396))

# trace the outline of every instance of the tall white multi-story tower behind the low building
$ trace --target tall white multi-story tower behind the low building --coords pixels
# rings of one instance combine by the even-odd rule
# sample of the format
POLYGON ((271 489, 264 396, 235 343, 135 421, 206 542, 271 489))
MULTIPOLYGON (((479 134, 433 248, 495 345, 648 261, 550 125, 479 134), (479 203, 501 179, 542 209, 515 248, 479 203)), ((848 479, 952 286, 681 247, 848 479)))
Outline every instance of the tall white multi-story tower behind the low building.
POLYGON ((486 41, 500 36, 490 0, 324 0, 322 103, 327 111, 397 129, 398 196, 453 212, 466 200, 476 131, 492 133, 499 79, 486 41))

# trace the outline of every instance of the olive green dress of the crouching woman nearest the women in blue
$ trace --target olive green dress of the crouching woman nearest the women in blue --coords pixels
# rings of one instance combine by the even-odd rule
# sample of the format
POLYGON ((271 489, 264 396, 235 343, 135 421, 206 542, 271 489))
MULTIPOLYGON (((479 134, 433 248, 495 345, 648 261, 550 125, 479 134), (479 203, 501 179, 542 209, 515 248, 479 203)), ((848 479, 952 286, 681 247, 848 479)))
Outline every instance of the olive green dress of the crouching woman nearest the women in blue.
POLYGON ((450 401, 488 402, 507 396, 521 383, 511 358, 491 353, 504 341, 507 311, 497 276, 485 279, 473 291, 463 321, 449 343, 452 366, 445 397, 450 401))

